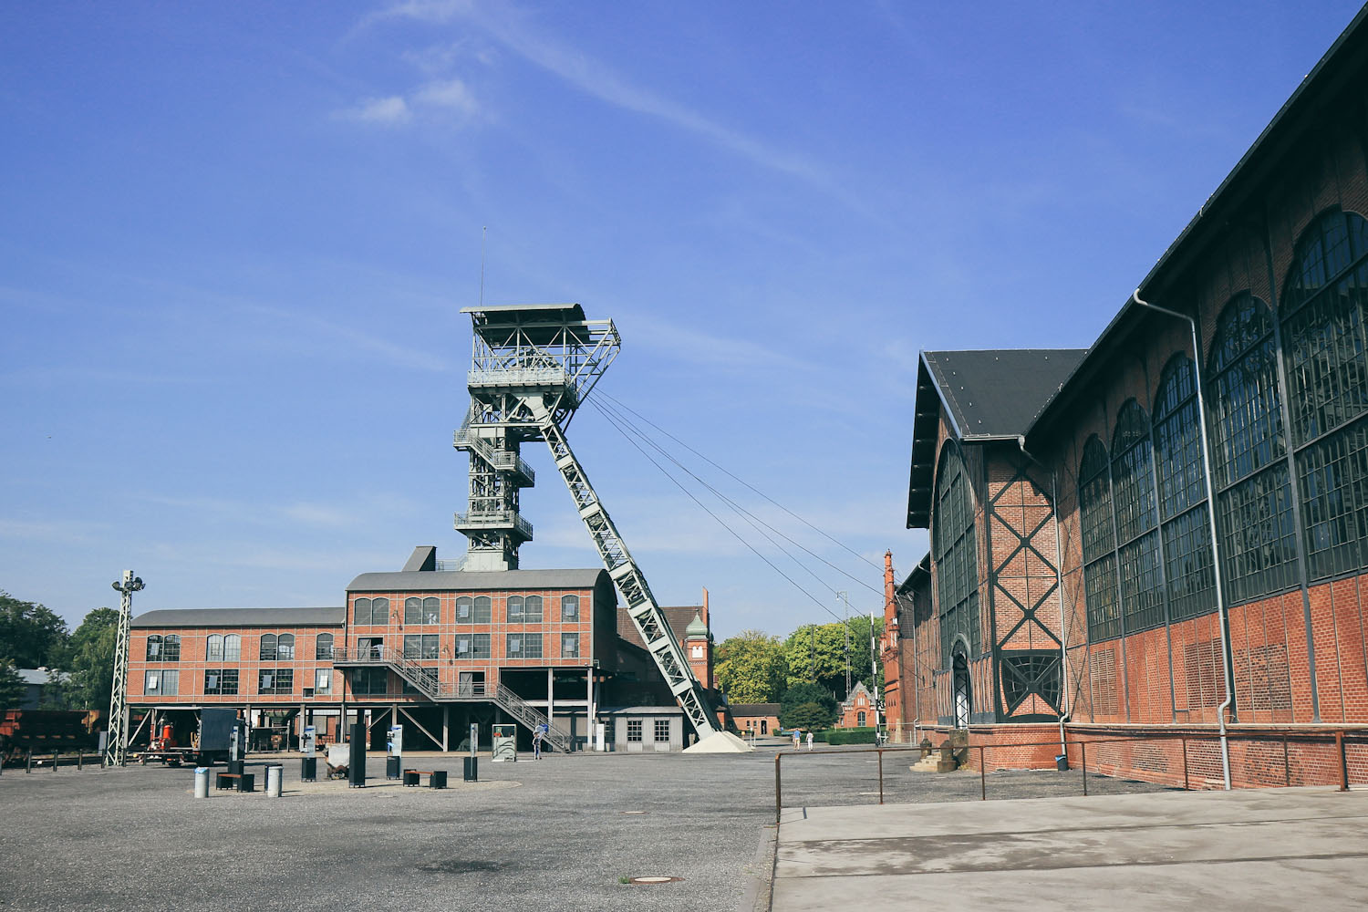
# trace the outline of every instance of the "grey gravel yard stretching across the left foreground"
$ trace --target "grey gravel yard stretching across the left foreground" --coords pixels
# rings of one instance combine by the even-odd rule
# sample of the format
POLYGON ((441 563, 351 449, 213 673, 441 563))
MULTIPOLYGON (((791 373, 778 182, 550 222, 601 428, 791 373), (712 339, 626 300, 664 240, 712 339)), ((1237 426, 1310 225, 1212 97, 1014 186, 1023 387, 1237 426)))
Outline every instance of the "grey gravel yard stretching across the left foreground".
MULTIPOLYGON (((978 800, 977 773, 911 773, 908 759, 885 755, 886 801, 978 800)), ((486 756, 477 785, 461 782, 458 755, 409 760, 449 770, 450 788, 386 782, 375 755, 367 789, 301 783, 286 760, 279 800, 197 801, 187 768, 5 770, 0 908, 731 911, 769 876, 757 849, 774 820, 773 747, 486 756), (683 879, 620 882, 651 875, 683 879)), ((260 764, 248 767, 259 788, 260 764)), ((785 757, 782 773, 785 807, 878 801, 870 757, 817 751, 785 757)), ((1157 786, 1089 777, 1089 790, 1157 786)), ((1079 793, 1078 773, 988 775, 989 799, 1079 793)))

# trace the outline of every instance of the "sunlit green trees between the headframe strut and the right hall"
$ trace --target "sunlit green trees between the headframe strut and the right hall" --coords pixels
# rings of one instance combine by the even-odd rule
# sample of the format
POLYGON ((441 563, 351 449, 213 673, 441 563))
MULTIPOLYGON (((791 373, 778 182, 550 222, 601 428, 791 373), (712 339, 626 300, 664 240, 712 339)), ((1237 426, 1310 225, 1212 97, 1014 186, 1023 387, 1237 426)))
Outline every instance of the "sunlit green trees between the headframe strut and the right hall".
POLYGON ((729 703, 778 703, 784 727, 828 727, 848 696, 847 660, 851 688, 863 682, 876 697, 882 692, 882 673, 870 654, 870 632, 877 640, 882 626, 881 618, 854 617, 848 623, 803 625, 787 640, 743 630, 718 644, 717 682, 729 703))

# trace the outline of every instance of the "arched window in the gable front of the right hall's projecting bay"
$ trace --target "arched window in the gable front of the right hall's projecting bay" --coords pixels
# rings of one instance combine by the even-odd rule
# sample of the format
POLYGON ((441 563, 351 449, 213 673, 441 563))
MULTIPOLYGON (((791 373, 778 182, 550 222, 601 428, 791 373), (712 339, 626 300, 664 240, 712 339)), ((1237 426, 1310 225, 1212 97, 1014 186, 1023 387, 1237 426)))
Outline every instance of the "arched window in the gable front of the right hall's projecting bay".
POLYGON ((981 651, 974 495, 964 457, 953 442, 941 450, 933 509, 932 559, 940 593, 941 663, 948 669, 956 640, 967 644, 971 656, 981 651))

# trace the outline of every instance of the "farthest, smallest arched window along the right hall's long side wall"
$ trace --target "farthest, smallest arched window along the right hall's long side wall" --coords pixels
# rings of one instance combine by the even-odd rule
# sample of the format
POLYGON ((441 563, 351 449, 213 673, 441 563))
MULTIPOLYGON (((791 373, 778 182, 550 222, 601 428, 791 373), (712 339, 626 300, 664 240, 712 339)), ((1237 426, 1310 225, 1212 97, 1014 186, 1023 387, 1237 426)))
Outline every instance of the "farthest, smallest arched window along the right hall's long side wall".
POLYGON ((1096 643, 1120 636, 1116 600, 1116 535, 1111 509, 1111 459, 1093 435, 1078 466, 1078 513, 1083 539, 1083 595, 1088 633, 1096 643))

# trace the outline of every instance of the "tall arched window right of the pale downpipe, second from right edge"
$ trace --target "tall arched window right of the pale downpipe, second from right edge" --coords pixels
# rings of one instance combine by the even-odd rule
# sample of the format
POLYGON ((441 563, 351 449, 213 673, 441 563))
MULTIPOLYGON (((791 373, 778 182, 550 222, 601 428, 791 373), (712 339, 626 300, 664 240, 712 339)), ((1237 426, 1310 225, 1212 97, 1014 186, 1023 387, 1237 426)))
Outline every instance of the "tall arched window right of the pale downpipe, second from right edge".
POLYGON ((1216 320, 1211 365, 1212 480, 1230 602, 1295 584, 1297 541, 1278 391, 1274 324, 1248 291, 1216 320))

